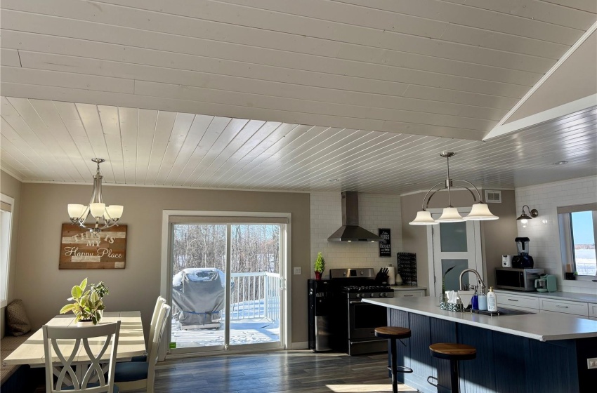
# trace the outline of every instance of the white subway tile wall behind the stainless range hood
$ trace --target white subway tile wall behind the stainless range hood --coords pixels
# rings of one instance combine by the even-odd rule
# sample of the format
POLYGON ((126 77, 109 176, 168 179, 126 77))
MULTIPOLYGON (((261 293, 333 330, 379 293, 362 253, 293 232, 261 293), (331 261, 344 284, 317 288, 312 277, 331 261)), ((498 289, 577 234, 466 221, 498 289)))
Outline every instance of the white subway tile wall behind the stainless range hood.
MULTIPOLYGON (((402 222, 400 218, 400 196, 386 194, 359 194, 360 226, 378 233, 379 228, 391 229, 392 256, 379 256, 377 243, 336 243, 327 238, 342 224, 340 192, 312 192, 311 206, 311 267, 321 251, 325 258, 324 277, 329 269, 342 267, 379 268, 396 265, 396 253, 402 251, 402 222)), ((313 270, 313 269, 311 269, 313 270)), ((315 277, 310 272, 311 277, 315 277)))

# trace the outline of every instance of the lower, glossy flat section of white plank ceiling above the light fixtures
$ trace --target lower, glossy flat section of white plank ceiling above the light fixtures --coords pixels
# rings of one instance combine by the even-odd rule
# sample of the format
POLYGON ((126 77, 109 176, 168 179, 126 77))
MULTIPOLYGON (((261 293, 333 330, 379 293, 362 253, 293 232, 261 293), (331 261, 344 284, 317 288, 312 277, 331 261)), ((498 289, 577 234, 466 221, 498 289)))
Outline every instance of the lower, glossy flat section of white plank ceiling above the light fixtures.
POLYGON ((442 150, 483 187, 597 173, 597 107, 480 142, 3 97, 1 130, 2 168, 33 181, 90 182, 98 156, 107 183, 391 194, 441 181, 442 150))

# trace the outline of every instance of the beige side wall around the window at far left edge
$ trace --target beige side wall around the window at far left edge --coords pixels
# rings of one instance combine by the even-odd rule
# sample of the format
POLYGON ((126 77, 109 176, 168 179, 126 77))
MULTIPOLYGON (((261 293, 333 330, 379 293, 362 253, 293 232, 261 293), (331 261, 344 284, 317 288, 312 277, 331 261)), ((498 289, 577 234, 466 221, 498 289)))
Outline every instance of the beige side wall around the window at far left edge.
MULTIPOLYGON (((15 200, 13 206, 13 238, 11 239, 11 260, 10 272, 15 272, 16 261, 17 261, 17 245, 18 245, 18 230, 19 230, 19 208, 20 208, 20 194, 21 194, 21 182, 8 173, 0 172, 0 192, 2 194, 11 196, 15 200)), ((8 276, 8 302, 11 302, 15 298, 15 274, 9 274, 8 276)), ((4 337, 4 307, 0 311, 0 337, 4 337)))

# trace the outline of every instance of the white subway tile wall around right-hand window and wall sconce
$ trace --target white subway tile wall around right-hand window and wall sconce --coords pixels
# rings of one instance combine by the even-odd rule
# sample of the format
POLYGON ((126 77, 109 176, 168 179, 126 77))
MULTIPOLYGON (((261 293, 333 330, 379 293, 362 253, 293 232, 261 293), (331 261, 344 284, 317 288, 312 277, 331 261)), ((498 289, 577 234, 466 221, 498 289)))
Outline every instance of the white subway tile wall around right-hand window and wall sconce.
POLYGON ((539 211, 539 217, 529 220, 527 227, 518 222, 518 236, 530 239, 530 255, 534 267, 542 267, 558 276, 558 291, 596 293, 597 283, 562 280, 558 206, 572 206, 597 201, 597 176, 578 178, 516 189, 517 216, 523 205, 539 211), (542 220, 548 220, 546 224, 542 220))

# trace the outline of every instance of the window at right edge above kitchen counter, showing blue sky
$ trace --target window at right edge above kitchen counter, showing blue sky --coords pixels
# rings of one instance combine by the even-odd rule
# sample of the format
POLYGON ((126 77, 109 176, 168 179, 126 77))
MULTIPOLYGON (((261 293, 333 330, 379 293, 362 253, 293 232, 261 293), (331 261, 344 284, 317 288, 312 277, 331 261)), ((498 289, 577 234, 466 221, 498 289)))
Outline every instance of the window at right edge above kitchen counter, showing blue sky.
POLYGON ((560 207, 558 221, 564 271, 575 272, 581 279, 594 279, 597 275, 597 204, 560 207))

